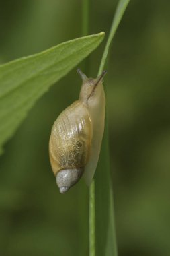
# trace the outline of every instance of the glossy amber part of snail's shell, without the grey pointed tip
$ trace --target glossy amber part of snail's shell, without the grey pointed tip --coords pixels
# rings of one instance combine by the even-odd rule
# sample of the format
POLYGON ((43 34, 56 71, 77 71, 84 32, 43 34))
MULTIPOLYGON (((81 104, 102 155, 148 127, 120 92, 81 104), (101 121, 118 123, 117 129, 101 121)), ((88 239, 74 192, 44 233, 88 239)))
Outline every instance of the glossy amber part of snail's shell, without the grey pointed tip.
POLYGON ((79 100, 66 108, 52 127, 49 152, 52 171, 83 168, 91 148, 91 119, 79 100))

